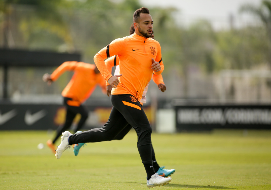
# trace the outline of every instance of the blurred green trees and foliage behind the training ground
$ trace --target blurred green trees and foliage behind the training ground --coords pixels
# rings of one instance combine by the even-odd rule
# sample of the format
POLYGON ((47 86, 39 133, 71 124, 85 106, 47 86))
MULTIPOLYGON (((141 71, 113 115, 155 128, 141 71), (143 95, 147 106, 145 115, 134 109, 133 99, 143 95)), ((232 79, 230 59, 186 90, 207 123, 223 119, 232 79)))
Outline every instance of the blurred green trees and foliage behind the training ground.
MULTIPOLYGON (((100 49, 129 35, 132 14, 143 5, 138 0, 0 0, 0 7, 1 47, 79 52, 82 61, 94 63, 100 49)), ((257 23, 224 30, 203 19, 187 27, 177 24, 174 7, 149 9, 162 47, 163 77, 175 88, 170 98, 219 98, 217 90, 213 95, 189 90, 193 73, 215 77, 221 70, 270 70, 271 1, 240 7, 240 14, 255 16, 257 23)))

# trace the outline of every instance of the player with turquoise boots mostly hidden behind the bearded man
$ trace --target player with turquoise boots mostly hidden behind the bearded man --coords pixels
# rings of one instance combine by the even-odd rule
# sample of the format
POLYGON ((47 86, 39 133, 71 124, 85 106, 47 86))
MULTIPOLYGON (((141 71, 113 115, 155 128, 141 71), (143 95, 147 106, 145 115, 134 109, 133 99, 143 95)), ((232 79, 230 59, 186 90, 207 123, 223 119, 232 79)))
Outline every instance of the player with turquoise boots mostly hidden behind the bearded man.
MULTIPOLYGON (((134 26, 132 24, 132 26, 130 27, 130 35, 132 35, 133 33, 134 33, 134 26)), ((151 38, 154 39, 153 31, 152 31, 151 38)), ((107 60, 105 60, 105 64, 106 64, 107 69, 109 71, 112 70, 113 66, 116 66, 114 75, 119 74, 120 67, 119 67, 118 63, 119 63, 118 55, 109 57, 107 60)), ((163 81, 161 74, 159 74, 159 75, 153 74, 152 79, 158 85, 158 88, 162 92, 166 91, 166 86, 164 84, 164 81, 163 81)), ((148 91, 148 86, 149 86, 149 83, 147 84, 147 86, 145 87, 145 89, 143 91, 142 99, 140 101, 141 105, 143 105, 143 103, 146 103, 146 93, 148 91)), ((107 82, 107 95, 108 96, 110 96, 112 88, 113 87, 111 85, 109 85, 107 82)), ((120 133, 113 140, 123 139, 124 136, 131 130, 131 128, 132 128, 132 126, 130 124, 128 124, 124 129, 122 129, 120 131, 120 133)), ((76 153, 75 156, 77 156, 77 154, 79 153, 79 149, 80 149, 80 147, 82 147, 81 144, 84 144, 84 143, 79 143, 74 146, 74 152, 76 153)), ((162 167, 159 166, 159 164, 157 163, 156 158, 155 158, 155 153, 154 153, 153 147, 152 147, 152 160, 153 160, 153 168, 156 171, 156 173, 158 173, 158 175, 163 176, 163 177, 168 177, 168 176, 171 176, 171 174, 173 174, 175 172, 175 169, 167 170, 167 169, 164 169, 164 166, 162 166, 162 167)))

